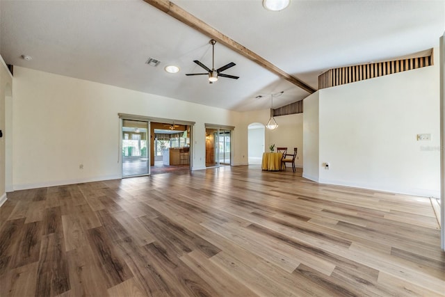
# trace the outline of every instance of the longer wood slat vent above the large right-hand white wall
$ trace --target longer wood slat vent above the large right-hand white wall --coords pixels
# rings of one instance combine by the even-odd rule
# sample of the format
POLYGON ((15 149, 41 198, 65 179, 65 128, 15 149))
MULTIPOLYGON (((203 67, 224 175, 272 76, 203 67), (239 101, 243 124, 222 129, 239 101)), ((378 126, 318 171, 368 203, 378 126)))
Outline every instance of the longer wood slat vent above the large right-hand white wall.
POLYGON ((318 76, 318 89, 431 66, 433 65, 432 54, 433 49, 430 50, 428 56, 330 69, 318 76))

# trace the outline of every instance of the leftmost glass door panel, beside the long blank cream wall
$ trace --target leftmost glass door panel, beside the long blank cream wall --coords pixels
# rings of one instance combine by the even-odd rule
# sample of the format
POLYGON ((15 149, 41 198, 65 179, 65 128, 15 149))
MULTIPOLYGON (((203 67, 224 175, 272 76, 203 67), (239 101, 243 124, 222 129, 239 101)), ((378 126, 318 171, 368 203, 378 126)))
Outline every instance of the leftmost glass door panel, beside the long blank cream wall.
POLYGON ((148 122, 122 120, 122 177, 147 175, 148 122))

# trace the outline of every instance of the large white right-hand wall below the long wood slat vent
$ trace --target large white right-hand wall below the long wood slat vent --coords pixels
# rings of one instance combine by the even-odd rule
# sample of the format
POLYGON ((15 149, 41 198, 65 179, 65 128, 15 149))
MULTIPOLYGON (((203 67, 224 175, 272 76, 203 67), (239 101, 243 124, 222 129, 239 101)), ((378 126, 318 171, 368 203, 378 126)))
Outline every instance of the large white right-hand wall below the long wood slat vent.
POLYGON ((319 90, 318 181, 438 197, 438 70, 319 90), (417 141, 417 134, 432 139, 417 141))

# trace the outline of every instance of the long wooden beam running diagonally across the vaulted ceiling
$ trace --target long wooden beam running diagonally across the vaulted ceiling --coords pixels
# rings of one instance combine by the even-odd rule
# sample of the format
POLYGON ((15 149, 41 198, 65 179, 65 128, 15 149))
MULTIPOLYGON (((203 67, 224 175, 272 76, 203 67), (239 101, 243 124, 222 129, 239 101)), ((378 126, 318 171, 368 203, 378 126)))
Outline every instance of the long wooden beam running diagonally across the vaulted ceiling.
POLYGON ((188 26, 191 26, 196 31, 199 31, 204 35, 209 36, 209 38, 213 38, 217 42, 222 43, 226 47, 229 47, 229 49, 232 49, 233 51, 236 51, 238 54, 245 56, 245 58, 250 59, 250 61, 253 61, 254 63, 260 65, 261 67, 266 68, 266 70, 269 70, 270 72, 277 74, 279 77, 286 79, 286 81, 293 83, 294 85, 298 86, 299 88, 302 88, 308 93, 312 94, 315 92, 315 90, 311 86, 308 86, 303 81, 300 81, 300 79, 297 79, 296 77, 291 76, 291 74, 284 72, 283 70, 273 65, 266 59, 255 54, 250 49, 247 49, 246 47, 243 47, 243 45, 240 45, 235 40, 232 40, 232 38, 227 37, 220 31, 211 27, 209 24, 202 22, 201 19, 198 19, 194 15, 191 15, 191 13, 188 13, 186 10, 180 8, 175 3, 172 3, 169 0, 144 0, 144 1, 149 3, 151 6, 154 6, 159 10, 162 10, 164 13, 167 13, 168 15, 175 17, 175 19, 178 19, 180 22, 188 26))

